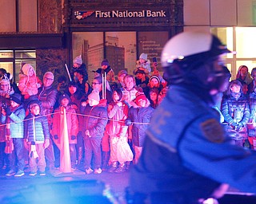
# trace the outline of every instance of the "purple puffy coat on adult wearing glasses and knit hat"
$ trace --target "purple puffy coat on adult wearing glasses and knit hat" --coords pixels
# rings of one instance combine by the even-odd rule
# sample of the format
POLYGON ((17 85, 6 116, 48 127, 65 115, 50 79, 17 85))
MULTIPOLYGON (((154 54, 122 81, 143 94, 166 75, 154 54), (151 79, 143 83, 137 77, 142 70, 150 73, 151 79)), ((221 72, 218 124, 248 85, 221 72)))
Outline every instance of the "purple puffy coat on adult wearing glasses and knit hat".
MULTIPOLYGON (((52 85, 38 89, 38 100, 42 103, 41 115, 45 116, 53 112, 57 100, 58 91, 52 85)), ((47 117, 49 120, 49 117, 47 117)))

